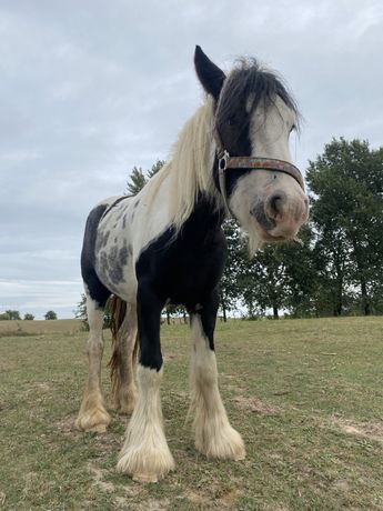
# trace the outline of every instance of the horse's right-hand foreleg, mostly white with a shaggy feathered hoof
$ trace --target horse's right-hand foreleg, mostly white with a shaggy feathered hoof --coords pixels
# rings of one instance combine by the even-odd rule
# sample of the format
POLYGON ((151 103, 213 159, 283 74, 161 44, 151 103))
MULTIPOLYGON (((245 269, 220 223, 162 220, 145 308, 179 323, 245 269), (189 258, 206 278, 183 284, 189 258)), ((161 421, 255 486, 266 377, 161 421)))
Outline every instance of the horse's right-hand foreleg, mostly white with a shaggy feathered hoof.
POLYGON ((242 460, 241 435, 230 425, 219 387, 213 333, 218 298, 203 304, 191 318, 191 413, 196 449, 209 458, 242 460))

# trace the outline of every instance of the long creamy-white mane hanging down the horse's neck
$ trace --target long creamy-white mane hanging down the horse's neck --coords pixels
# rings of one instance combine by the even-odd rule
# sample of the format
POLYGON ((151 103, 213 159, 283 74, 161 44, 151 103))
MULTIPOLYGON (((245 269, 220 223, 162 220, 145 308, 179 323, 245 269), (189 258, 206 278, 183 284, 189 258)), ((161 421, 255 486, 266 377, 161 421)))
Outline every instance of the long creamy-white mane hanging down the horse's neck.
POLYGON ((220 196, 213 181, 215 143, 213 141, 213 101, 206 98, 182 128, 168 163, 148 182, 148 202, 167 180, 170 187, 170 219, 178 232, 190 217, 199 194, 216 203, 220 196))

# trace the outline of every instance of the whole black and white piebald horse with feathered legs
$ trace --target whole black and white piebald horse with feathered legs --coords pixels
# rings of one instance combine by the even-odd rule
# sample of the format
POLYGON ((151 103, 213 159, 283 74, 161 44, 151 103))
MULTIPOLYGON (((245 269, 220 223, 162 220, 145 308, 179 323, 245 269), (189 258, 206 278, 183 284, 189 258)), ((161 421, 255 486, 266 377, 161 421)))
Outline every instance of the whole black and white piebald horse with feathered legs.
POLYGON ((114 403, 131 413, 117 470, 141 482, 157 482, 174 469, 160 399, 163 307, 183 304, 190 314, 196 450, 244 459, 244 442, 220 395, 214 351, 226 258, 222 223, 228 216, 236 219, 254 253, 263 242, 294 239, 308 220, 302 174, 289 150, 300 116, 282 79, 255 59, 239 60, 226 74, 199 46, 194 67, 204 100, 169 161, 137 196, 112 197, 92 209, 81 252, 89 377, 75 425, 104 432, 110 422, 100 370, 103 313, 113 295, 114 403))

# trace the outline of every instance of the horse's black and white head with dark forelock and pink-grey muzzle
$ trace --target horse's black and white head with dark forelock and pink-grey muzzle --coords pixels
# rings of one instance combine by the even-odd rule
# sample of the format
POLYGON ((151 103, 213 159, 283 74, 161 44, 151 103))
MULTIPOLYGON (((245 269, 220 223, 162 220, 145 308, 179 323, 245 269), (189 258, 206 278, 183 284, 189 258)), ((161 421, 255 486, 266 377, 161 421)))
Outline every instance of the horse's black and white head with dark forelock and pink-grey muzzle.
POLYGON ((292 164, 289 138, 298 109, 280 79, 255 61, 228 77, 200 47, 195 69, 215 104, 215 182, 251 244, 292 239, 308 220, 309 201, 292 164), (219 173, 221 178, 218 179, 219 173))

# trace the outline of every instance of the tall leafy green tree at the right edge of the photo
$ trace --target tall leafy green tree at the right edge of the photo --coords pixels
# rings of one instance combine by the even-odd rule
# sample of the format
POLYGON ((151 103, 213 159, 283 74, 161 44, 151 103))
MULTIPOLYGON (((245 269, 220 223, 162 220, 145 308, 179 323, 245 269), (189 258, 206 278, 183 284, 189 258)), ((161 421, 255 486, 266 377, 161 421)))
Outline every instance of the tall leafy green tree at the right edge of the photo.
POLYGON ((346 302, 356 292, 367 315, 383 288, 383 149, 371 150, 366 141, 333 139, 310 162, 308 181, 313 192, 315 251, 330 284, 333 313, 347 310, 346 302))

